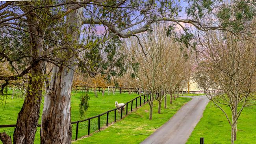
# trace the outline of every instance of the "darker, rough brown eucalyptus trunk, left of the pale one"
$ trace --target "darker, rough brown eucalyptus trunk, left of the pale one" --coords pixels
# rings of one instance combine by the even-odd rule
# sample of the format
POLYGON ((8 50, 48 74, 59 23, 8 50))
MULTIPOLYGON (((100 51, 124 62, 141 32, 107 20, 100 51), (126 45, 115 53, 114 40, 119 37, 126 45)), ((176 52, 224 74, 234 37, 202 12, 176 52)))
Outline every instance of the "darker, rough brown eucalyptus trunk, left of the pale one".
MULTIPOLYGON (((31 55, 30 63, 37 61, 41 57, 43 51, 43 30, 39 29, 39 21, 36 16, 27 16, 30 33, 31 55), (38 37, 40 35, 42 37, 38 37)), ((35 132, 40 113, 40 105, 42 100, 42 89, 44 82, 45 66, 42 61, 33 66, 28 77, 28 88, 22 108, 18 114, 15 131, 13 133, 14 144, 33 144, 35 132)))

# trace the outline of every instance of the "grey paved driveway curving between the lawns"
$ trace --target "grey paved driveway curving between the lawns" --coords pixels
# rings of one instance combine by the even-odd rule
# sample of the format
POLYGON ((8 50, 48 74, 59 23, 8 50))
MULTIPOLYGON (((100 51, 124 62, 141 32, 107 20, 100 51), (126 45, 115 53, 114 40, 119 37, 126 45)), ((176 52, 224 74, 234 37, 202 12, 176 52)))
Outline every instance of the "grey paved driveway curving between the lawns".
POLYGON ((192 96, 191 98, 192 100, 141 144, 186 144, 210 101, 206 96, 192 96))

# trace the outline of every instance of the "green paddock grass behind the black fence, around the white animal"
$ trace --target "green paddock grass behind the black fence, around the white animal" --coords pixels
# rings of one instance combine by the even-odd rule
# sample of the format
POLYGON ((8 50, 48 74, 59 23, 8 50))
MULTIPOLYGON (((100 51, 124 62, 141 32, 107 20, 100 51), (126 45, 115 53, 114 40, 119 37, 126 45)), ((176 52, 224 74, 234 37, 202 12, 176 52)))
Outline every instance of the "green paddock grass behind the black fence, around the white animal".
MULTIPOLYGON (((83 94, 83 92, 75 93, 72 92, 71 96, 71 120, 72 122, 76 120, 81 120, 79 115, 79 103, 80 103, 80 95, 83 94)), ((93 92, 89 92, 90 100, 89 100, 89 109, 86 112, 86 118, 104 113, 108 110, 115 108, 115 101, 119 103, 126 103, 133 98, 137 97, 137 94, 119 94, 119 92, 116 92, 115 95, 110 94, 108 95, 108 92, 105 91, 105 96, 102 96, 101 93, 98 93, 98 98, 95 98, 93 92)), ((43 101, 42 101, 43 102, 43 101)), ((7 98, 6 105, 4 102, 0 103, 0 125, 6 125, 6 124, 16 124, 18 113, 22 107, 23 100, 22 98, 7 98), (5 108, 4 108, 5 106, 5 108)), ((139 102, 138 102, 139 103, 139 102)), ((128 104, 130 105, 130 104, 128 104)), ((135 102, 133 103, 133 107, 135 107, 135 102)), ((41 113, 43 110, 43 104, 41 104, 41 113)), ((117 119, 120 118, 120 114, 117 113, 117 119)), ((85 118, 83 118, 85 119, 85 118)), ((109 123, 114 121, 114 113, 109 113, 109 123)), ((39 123, 41 123, 41 117, 39 118, 39 123)), ((106 115, 100 117, 100 125, 105 126, 106 125, 106 115)), ((98 129, 98 118, 91 120, 90 125, 90 131, 96 131, 98 129)), ((87 135, 87 128, 88 122, 79 123, 79 133, 78 138, 82 137, 83 135, 87 135)), ((0 128, 0 132, 6 131, 8 135, 11 135, 13 137, 13 131, 15 127, 8 127, 8 128, 0 128)), ((76 124, 72 126, 72 139, 75 138, 75 130, 76 124)), ((0 142, 0 144, 2 144, 0 142)), ((35 144, 40 144, 40 127, 37 128, 36 136, 35 136, 35 144)))

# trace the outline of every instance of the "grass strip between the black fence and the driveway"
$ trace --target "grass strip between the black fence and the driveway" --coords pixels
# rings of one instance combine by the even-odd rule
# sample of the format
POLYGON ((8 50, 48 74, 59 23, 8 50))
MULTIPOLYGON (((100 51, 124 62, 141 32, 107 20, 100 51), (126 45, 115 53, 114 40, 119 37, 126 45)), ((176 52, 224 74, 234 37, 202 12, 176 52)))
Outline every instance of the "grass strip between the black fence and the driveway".
MULTIPOLYGON (((167 100, 169 102, 169 96, 167 100)), ((189 100, 191 98, 177 98, 172 105, 167 104, 167 109, 162 105, 161 114, 157 113, 158 103, 155 101, 153 120, 148 120, 149 106, 144 105, 126 116, 124 120, 73 144, 139 144, 167 122, 189 100)))

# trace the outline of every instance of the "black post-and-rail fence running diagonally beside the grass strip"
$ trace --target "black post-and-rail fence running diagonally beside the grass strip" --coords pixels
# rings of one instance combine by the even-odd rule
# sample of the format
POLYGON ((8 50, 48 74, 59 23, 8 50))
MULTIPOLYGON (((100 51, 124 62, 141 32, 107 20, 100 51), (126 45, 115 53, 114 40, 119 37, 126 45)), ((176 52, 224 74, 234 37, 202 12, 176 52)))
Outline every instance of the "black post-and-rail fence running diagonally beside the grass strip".
MULTIPOLYGON (((158 94, 156 94, 156 96, 157 96, 158 94)), ((90 118, 86 118, 86 119, 84 119, 84 120, 78 120, 78 121, 75 121, 75 122, 71 122, 71 124, 76 124, 76 137, 75 137, 75 139, 77 140, 77 138, 78 138, 78 127, 79 127, 79 123, 82 123, 82 122, 86 122, 86 121, 88 121, 88 135, 90 135, 90 123, 91 123, 91 120, 92 119, 94 119, 94 118, 98 118, 98 130, 100 131, 100 116, 103 116, 103 115, 105 115, 105 114, 107 114, 107 119, 106 119, 106 126, 108 126, 109 125, 109 113, 111 113, 111 112, 113 112, 114 113, 114 122, 116 122, 116 120, 117 120, 117 110, 118 109, 121 109, 121 117, 120 117, 120 119, 122 119, 123 118, 123 115, 124 114, 129 114, 128 112, 129 111, 133 111, 133 104, 134 104, 134 101, 135 101, 135 109, 138 107, 138 106, 141 106, 141 104, 145 104, 145 100, 146 100, 146 97, 148 98, 148 99, 151 99, 151 96, 152 96, 152 94, 151 94, 151 92, 150 93, 148 93, 148 94, 143 94, 143 95, 141 95, 141 96, 137 96, 136 98, 134 98, 134 99, 132 99, 132 100, 130 100, 129 102, 126 102, 124 105, 122 105, 121 107, 118 107, 118 108, 115 108, 115 109, 111 109, 111 110, 109 110, 109 111, 106 111, 105 113, 102 113, 102 114, 98 114, 98 115, 96 115, 96 116, 93 116, 93 117, 90 117, 90 118), (128 106, 130 105, 130 107, 131 107, 131 109, 129 110, 128 109, 128 106), (125 107, 125 108, 124 108, 125 107), (123 113, 123 109, 125 109, 126 110, 126 113, 123 113)), ((41 124, 38 124, 37 125, 37 127, 40 127, 41 126, 41 124)), ((16 127, 16 124, 11 124, 11 125, 0 125, 0 128, 1 127, 16 127)))

